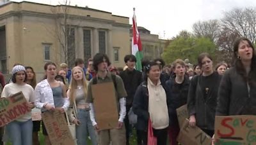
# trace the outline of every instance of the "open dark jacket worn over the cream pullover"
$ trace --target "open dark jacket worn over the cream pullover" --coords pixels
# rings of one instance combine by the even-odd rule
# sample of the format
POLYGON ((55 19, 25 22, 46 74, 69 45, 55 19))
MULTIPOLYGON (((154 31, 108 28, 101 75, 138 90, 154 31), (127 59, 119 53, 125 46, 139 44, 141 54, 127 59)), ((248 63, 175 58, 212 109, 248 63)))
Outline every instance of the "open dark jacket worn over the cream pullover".
MULTIPOLYGON (((166 92, 166 103, 167 103, 167 107, 169 108, 170 91, 166 87, 165 83, 161 83, 161 85, 163 85, 163 88, 166 92)), ((147 88, 146 81, 143 81, 143 83, 141 83, 141 85, 138 86, 136 90, 133 104, 132 104, 132 111, 134 112, 134 114, 138 115, 136 129, 147 131, 149 113, 148 113, 148 88, 147 88)), ((169 109, 168 109, 168 114, 170 116, 169 109)))

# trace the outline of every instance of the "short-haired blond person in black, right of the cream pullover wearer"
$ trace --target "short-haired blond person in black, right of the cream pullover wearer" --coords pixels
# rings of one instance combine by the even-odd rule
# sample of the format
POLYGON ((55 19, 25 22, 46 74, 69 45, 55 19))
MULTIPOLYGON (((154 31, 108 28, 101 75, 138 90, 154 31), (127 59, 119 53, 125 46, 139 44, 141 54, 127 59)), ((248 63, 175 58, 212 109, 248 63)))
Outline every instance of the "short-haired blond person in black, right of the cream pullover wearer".
POLYGON ((166 81, 166 86, 170 89, 170 127, 169 139, 171 145, 177 145, 177 137, 180 131, 176 109, 185 105, 188 98, 189 78, 185 76, 186 64, 183 60, 177 59, 173 62, 175 77, 166 81))

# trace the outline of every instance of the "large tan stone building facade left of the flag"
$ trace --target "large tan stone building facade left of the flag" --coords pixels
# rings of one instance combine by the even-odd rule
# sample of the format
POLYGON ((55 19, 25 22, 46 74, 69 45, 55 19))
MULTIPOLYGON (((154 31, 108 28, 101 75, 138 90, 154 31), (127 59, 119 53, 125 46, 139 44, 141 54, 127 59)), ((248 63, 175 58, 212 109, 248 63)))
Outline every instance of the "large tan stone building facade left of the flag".
MULTIPOLYGON (((74 66, 102 52, 116 67, 131 53, 128 17, 77 6, 10 2, 0 6, 0 71, 13 64, 44 74, 45 62, 74 66)), ((86 62, 86 61, 85 61, 86 62)))

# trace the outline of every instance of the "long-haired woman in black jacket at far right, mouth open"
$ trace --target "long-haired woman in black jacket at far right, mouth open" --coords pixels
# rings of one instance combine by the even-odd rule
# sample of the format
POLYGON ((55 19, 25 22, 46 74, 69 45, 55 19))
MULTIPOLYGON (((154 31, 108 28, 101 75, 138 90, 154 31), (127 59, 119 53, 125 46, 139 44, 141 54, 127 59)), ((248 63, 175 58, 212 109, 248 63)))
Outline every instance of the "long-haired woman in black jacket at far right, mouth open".
POLYGON ((233 59, 221 79, 216 115, 256 115, 256 55, 249 39, 236 40, 233 59))

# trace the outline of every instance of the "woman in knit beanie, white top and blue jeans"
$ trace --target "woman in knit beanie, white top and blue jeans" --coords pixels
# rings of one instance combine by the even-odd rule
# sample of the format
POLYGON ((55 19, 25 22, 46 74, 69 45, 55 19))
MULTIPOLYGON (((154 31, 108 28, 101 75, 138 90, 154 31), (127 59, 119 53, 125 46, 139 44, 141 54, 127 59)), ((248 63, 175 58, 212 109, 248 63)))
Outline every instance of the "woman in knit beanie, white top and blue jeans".
MULTIPOLYGON (((28 101, 29 110, 33 109, 35 93, 32 86, 26 84, 27 74, 24 66, 17 65, 12 69, 12 83, 4 86, 1 97, 10 97, 14 93, 22 92, 28 101)), ((8 137, 13 145, 32 145, 33 123, 31 111, 20 116, 6 125, 8 137)))

